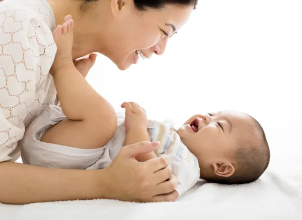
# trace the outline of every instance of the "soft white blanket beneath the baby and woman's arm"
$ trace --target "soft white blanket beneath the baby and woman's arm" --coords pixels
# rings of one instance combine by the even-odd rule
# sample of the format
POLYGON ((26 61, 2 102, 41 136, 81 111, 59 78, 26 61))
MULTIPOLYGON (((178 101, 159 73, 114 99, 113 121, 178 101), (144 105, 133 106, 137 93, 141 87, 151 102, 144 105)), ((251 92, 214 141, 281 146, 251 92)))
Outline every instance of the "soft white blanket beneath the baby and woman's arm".
MULTIPOLYGON (((302 160, 238 186, 198 182, 175 202, 87 200, 0 205, 0 219, 302 219, 302 160), (288 169, 288 168, 291 169, 288 169), (296 169, 293 169, 296 168, 296 169)), ((280 166, 281 167, 281 166, 280 166)))

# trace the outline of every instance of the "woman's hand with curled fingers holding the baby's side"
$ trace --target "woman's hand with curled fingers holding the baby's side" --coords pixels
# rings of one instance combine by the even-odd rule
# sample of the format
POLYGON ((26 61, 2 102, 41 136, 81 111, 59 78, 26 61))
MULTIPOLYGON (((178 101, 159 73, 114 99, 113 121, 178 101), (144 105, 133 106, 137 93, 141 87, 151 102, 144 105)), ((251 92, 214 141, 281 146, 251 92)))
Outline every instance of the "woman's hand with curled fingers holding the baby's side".
POLYGON ((175 191, 177 178, 168 166, 169 158, 161 156, 145 162, 135 160, 138 155, 155 151, 159 144, 142 141, 124 146, 105 168, 106 185, 110 186, 105 198, 137 202, 174 201, 178 197, 175 191))

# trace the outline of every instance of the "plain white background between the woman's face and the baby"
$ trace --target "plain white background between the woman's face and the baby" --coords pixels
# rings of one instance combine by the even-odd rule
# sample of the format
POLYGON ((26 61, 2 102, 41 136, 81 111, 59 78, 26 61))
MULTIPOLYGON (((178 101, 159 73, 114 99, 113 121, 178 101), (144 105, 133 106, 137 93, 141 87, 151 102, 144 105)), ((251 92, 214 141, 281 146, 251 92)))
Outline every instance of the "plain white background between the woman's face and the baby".
POLYGON ((87 80, 117 111, 134 101, 176 127, 198 112, 246 112, 281 163, 302 155, 301 61, 302 1, 203 0, 164 55, 120 71, 99 54, 87 80))

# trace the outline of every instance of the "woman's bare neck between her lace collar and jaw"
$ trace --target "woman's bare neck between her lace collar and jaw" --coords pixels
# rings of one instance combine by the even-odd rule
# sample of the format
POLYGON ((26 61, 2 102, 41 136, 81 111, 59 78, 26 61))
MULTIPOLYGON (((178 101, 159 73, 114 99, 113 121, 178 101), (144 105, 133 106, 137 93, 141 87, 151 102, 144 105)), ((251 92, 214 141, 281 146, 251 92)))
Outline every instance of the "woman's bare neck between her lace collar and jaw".
MULTIPOLYGON (((98 9, 93 9, 89 12, 86 12, 84 15, 80 14, 80 4, 81 1, 56 1, 56 0, 47 0, 48 4, 53 10, 56 25, 63 24, 64 18, 66 15, 71 15, 72 19, 74 20, 74 28, 73 28, 73 46, 72 46, 72 58, 76 59, 87 54, 93 52, 100 52, 104 50, 101 48, 100 41, 104 38, 102 35, 103 29, 106 29, 106 22, 105 20, 98 19, 97 21, 93 19, 94 17, 94 10, 100 10, 99 8, 105 7, 97 7, 98 9), (98 42, 97 42, 98 41, 98 42)), ((99 3, 100 4, 100 3, 99 3)), ((88 9, 90 10, 90 9, 88 9)), ((106 10, 102 10, 99 13, 106 13, 106 10)), ((104 18, 106 16, 103 16, 104 18)), ((105 42, 103 45, 106 45, 105 42)))

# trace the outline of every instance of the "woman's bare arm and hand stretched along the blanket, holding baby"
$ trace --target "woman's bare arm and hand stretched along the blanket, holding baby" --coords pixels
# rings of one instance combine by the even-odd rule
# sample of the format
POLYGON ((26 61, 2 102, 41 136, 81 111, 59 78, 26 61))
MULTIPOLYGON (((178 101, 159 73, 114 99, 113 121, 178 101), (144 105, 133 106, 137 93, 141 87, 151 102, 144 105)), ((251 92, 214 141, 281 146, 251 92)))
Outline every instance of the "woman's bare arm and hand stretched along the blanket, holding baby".
POLYGON ((52 169, 2 162, 0 202, 26 204, 95 198, 173 201, 177 198, 177 193, 172 192, 177 180, 171 178, 171 170, 167 166, 169 158, 161 157, 142 163, 134 159, 156 148, 157 142, 124 146, 109 167, 101 170, 52 169), (169 181, 165 181, 167 179, 169 181), (163 195, 165 193, 170 194, 163 195))

